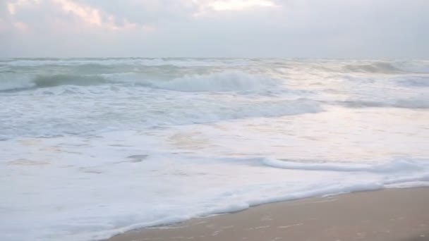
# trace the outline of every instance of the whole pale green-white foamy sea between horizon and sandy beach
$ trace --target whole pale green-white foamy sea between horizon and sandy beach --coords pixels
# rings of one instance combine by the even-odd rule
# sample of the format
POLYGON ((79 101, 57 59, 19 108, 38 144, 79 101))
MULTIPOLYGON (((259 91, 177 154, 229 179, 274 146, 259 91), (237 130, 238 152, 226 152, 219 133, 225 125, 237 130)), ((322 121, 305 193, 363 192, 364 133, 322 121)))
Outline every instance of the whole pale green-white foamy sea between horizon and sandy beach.
POLYGON ((429 186, 429 61, 0 59, 1 240, 429 186))

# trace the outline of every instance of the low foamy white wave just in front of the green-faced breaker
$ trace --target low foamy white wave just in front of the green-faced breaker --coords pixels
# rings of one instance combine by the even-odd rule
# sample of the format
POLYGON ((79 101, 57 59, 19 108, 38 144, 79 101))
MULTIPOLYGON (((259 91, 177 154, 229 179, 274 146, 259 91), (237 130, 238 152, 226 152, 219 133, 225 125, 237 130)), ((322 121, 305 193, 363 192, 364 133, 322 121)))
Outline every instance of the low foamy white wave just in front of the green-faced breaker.
MULTIPOLYGON (((110 97, 111 94, 107 94, 107 96, 110 97)), ((4 117, 4 123, 12 124, 7 128, 1 128, 0 123, 0 140, 18 136, 56 137, 83 133, 92 135, 107 130, 164 128, 172 125, 277 118, 324 111, 317 101, 308 99, 283 101, 230 101, 229 99, 214 101, 212 99, 203 101, 193 97, 186 99, 170 97, 169 101, 159 101, 155 95, 150 97, 119 104, 123 107, 115 106, 117 103, 114 97, 109 103, 102 104, 103 107, 97 108, 85 106, 85 109, 75 110, 74 105, 72 105, 73 107, 65 105, 68 109, 63 108, 55 113, 47 111, 46 106, 34 104, 35 107, 30 114, 4 117), (73 113, 76 116, 90 114, 90 117, 78 119, 71 116, 73 113), (46 125, 40 125, 40 123, 49 123, 49 126, 53 126, 53 128, 47 128, 46 125)), ((84 106, 83 102, 79 103, 84 106)), ((61 103, 57 106, 61 106, 61 103)))

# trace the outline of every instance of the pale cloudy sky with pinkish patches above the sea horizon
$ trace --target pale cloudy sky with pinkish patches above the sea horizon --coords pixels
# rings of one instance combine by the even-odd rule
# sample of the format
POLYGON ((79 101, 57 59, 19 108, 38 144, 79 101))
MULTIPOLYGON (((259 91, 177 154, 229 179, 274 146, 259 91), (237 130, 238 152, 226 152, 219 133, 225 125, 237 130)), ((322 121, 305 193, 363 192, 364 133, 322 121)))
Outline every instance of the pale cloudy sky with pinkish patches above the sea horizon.
POLYGON ((429 58, 429 0, 0 0, 0 57, 429 58))

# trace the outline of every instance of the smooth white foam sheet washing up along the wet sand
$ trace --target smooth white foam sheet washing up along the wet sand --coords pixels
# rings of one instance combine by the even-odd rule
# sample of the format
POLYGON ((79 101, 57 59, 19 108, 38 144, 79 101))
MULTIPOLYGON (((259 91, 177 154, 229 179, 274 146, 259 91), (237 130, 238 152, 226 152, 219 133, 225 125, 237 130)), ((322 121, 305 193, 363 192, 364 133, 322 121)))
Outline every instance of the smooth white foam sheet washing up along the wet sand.
POLYGON ((3 237, 99 240, 268 202, 429 182, 425 159, 349 163, 350 168, 346 163, 266 168, 246 159, 168 154, 169 147, 153 137, 160 132, 150 133, 4 141, 0 182, 8 185, 0 186, 7 194, 0 199, 3 237), (45 154, 37 159, 40 150, 45 154))

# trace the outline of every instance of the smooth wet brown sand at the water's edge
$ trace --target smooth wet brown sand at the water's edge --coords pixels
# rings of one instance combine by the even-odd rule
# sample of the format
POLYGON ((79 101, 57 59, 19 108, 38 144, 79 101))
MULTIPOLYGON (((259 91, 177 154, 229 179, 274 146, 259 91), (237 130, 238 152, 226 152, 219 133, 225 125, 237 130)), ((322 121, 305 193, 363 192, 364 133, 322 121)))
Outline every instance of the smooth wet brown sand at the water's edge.
POLYGON ((234 214, 134 230, 109 239, 131 240, 429 240, 429 188, 265 204, 234 214))

